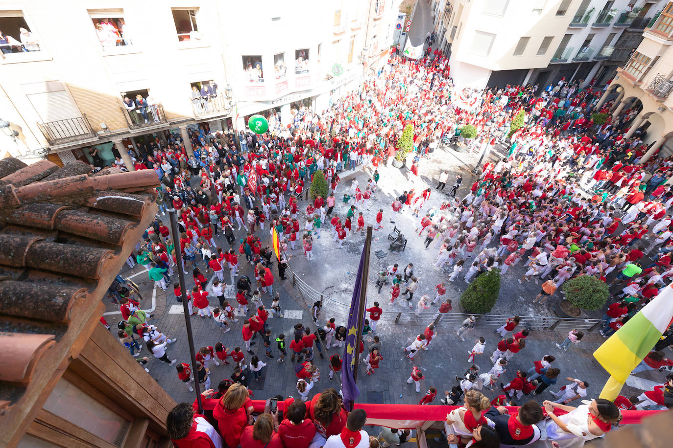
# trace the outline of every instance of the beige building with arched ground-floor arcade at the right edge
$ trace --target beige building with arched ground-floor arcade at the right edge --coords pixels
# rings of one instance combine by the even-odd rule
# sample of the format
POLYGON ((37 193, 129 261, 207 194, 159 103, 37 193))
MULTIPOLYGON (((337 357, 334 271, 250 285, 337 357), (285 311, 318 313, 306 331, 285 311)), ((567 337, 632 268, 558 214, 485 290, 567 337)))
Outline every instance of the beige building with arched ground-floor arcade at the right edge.
POLYGON ((614 98, 614 116, 625 108, 639 109, 626 136, 639 128, 646 131, 643 141, 651 146, 641 162, 657 151, 660 156, 673 154, 672 44, 673 2, 669 1, 651 27, 645 28, 642 42, 625 66, 617 69, 599 103, 614 98))

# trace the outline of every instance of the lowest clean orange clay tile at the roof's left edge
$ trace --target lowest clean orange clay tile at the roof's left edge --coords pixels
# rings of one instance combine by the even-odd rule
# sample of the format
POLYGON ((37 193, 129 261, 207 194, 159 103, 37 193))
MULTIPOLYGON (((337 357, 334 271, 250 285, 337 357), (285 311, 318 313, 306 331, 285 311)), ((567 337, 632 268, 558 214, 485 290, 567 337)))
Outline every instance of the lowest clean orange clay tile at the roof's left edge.
POLYGON ((27 383, 40 356, 55 344, 53 334, 0 333, 0 381, 27 383))

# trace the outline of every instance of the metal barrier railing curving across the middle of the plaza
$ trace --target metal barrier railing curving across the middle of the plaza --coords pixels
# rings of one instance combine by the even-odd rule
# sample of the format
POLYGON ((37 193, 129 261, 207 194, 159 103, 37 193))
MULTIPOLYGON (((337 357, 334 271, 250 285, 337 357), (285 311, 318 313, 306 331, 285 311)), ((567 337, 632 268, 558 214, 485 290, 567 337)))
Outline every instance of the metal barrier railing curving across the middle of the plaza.
MULTIPOLYGON (((336 320, 345 320, 348 319, 350 312, 350 303, 343 303, 339 300, 335 300, 330 296, 326 296, 318 292, 314 287, 306 283, 301 278, 301 275, 297 275, 291 267, 286 270, 286 274, 289 274, 293 286, 299 290, 304 298, 306 307, 310 308, 314 302, 322 302, 322 309, 325 312, 325 318, 336 318, 336 320)), ((368 301, 371 298, 368 299, 368 301)), ((398 301, 402 300, 398 298, 398 301)), ((470 317, 474 316, 476 318, 476 324, 480 327, 488 328, 499 328, 507 318, 511 316, 499 316, 497 314, 466 314, 466 313, 439 313, 437 308, 433 308, 433 312, 423 312, 417 313, 414 311, 398 311, 398 305, 394 304, 393 310, 391 306, 388 306, 388 298, 382 295, 382 298, 378 300, 382 304, 384 311, 381 314, 379 322, 386 322, 388 324, 402 324, 402 325, 427 325, 430 322, 434 321, 435 324, 442 322, 443 326, 460 326, 462 322, 470 317)), ((350 301, 349 301, 350 302, 350 301)), ((373 302, 373 300, 371 300, 373 302)), ((561 331, 567 332, 577 328, 578 330, 583 330, 585 332, 592 332, 599 328, 603 323, 602 319, 583 319, 583 318, 559 318, 555 316, 520 316, 522 328, 528 328, 529 330, 536 331, 561 331)))

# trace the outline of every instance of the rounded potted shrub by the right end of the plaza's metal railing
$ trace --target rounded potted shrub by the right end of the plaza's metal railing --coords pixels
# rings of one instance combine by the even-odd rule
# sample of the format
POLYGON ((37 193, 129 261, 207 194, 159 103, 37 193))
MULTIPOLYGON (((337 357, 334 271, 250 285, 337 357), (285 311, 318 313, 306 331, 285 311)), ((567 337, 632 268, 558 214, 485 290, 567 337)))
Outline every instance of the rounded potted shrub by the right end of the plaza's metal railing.
POLYGON ((561 300, 559 308, 565 316, 555 308, 559 317, 578 318, 581 310, 600 310, 610 297, 608 285, 593 275, 577 275, 563 283, 561 290, 565 292, 565 299, 561 300))

